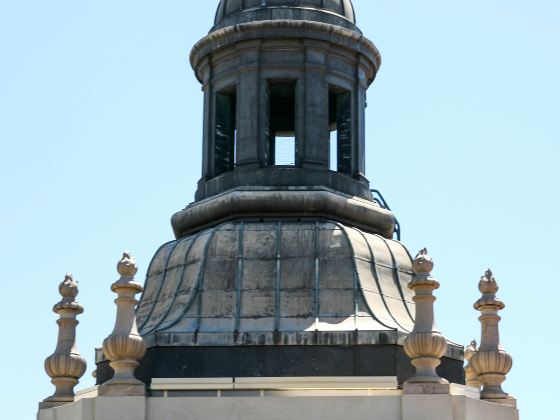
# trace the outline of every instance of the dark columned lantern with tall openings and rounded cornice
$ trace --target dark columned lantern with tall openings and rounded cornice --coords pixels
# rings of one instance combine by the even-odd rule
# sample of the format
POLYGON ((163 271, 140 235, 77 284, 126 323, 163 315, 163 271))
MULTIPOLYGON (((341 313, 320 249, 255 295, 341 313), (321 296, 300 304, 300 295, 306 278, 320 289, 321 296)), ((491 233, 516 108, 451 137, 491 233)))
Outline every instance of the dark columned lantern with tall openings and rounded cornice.
POLYGON ((191 64, 205 92, 203 174, 196 200, 247 186, 321 186, 371 200, 365 91, 381 61, 358 31, 313 19, 248 20, 198 42, 191 64), (271 89, 278 83, 293 87, 294 109, 285 103, 272 108, 271 89), (335 112, 334 98, 341 92, 348 98, 347 112, 335 112), (235 98, 227 109, 216 105, 224 94, 235 98), (293 121, 276 127, 272 121, 279 114, 293 121), (225 115, 234 118, 224 120, 225 115), (330 144, 334 131, 338 147, 330 144), (271 158, 276 135, 295 139, 293 165, 283 167, 271 158), (331 165, 331 147, 337 147, 337 165, 331 165))

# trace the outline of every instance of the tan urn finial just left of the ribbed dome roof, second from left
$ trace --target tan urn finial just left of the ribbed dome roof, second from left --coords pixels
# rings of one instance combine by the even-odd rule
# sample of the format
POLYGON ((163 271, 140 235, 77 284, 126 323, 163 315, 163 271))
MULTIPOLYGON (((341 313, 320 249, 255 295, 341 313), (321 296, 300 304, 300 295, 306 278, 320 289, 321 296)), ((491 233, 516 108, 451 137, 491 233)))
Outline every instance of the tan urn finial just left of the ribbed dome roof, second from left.
POLYGON ((113 332, 103 342, 103 352, 115 374, 99 388, 99 395, 143 396, 146 393, 145 385, 134 376, 140 359, 146 353, 134 312, 138 304, 135 296, 142 291, 142 285, 134 280, 138 266, 129 252, 123 254, 117 264, 117 271, 121 277, 111 286, 118 296, 115 300, 117 319, 113 332))

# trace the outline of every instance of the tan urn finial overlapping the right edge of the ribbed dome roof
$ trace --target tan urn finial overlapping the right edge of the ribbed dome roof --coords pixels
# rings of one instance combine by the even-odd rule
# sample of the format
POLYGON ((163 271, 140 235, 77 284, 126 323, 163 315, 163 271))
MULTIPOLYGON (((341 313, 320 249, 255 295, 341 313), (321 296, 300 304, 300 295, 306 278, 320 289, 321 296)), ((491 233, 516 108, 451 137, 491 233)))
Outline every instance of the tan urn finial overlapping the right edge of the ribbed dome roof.
POLYGON ((433 292, 439 288, 439 283, 431 276, 433 267, 434 263, 426 249, 421 250, 412 263, 415 275, 408 287, 415 294, 413 300, 416 303, 416 320, 414 329, 404 342, 404 350, 412 359, 416 375, 406 382, 407 393, 449 391, 448 382, 436 373, 436 368, 441 363, 440 359, 447 352, 447 339, 438 331, 434 320, 436 298, 433 292), (428 386, 411 386, 414 384, 428 386))

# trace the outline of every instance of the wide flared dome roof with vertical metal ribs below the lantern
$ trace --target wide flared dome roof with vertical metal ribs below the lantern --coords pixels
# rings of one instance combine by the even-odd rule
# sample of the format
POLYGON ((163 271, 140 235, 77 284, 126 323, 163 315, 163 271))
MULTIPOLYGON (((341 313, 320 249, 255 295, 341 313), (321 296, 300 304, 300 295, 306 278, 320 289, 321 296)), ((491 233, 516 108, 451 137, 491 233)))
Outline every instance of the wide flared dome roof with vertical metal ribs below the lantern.
POLYGON ((157 251, 138 327, 149 347, 375 344, 412 329, 412 275, 400 242, 341 223, 228 222, 157 251))

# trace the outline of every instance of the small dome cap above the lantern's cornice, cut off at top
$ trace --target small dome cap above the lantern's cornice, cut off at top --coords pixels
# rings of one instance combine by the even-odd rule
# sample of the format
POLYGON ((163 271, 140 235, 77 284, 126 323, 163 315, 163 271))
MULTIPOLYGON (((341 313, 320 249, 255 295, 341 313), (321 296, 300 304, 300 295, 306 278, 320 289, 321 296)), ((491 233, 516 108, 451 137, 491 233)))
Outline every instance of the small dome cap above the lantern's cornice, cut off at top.
POLYGON ((276 19, 314 20, 356 29, 351 0, 221 0, 213 30, 276 19))

